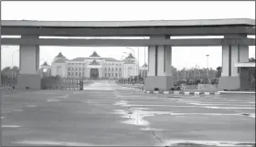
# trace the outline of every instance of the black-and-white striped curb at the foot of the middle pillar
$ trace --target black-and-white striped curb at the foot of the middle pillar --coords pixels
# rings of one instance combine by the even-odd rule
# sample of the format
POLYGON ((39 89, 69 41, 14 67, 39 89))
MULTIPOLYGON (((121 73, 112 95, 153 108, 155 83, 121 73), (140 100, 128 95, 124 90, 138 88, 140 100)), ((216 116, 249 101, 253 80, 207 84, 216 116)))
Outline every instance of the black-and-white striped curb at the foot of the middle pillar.
POLYGON ((174 95, 219 95, 219 92, 190 92, 190 91, 145 91, 144 93, 174 94, 174 95))

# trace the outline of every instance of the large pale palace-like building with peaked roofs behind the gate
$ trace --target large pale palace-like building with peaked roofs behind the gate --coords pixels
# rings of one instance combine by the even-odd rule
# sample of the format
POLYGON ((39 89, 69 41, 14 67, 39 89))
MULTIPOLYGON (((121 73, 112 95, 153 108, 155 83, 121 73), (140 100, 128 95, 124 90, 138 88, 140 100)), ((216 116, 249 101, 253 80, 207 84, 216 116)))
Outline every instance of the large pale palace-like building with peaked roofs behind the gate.
POLYGON ((128 79, 133 76, 146 77, 147 65, 138 66, 138 61, 129 54, 123 60, 101 58, 94 51, 88 58, 68 59, 59 52, 51 65, 44 63, 41 69, 48 68, 48 76, 75 79, 128 79))

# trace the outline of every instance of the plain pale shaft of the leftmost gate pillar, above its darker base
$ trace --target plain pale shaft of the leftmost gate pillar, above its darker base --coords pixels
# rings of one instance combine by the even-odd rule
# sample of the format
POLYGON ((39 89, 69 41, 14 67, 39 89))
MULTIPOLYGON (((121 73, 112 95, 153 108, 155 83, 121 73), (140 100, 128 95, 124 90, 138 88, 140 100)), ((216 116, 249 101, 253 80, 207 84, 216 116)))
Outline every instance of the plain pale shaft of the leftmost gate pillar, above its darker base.
MULTIPOLYGON (((37 36, 22 36, 22 38, 37 38, 37 36)), ((39 46, 20 45, 20 71, 19 74, 39 73, 39 46)))

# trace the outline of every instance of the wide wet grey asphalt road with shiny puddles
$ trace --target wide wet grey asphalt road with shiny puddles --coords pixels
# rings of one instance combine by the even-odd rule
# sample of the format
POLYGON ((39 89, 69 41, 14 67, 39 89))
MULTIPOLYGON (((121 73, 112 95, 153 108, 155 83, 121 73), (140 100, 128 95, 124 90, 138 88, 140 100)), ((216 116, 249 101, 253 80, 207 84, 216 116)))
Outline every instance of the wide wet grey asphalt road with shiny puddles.
POLYGON ((2 145, 255 143, 254 95, 146 94, 95 81, 78 90, 6 90, 2 145))

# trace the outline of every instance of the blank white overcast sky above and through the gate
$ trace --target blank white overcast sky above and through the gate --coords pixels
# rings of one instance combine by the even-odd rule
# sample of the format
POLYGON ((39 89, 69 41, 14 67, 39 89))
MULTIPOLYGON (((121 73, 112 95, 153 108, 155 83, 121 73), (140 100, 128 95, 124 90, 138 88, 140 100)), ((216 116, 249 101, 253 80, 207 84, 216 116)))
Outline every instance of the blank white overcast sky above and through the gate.
MULTIPOLYGON (((2 2, 2 20, 178 20, 215 18, 253 18, 255 1, 251 2, 2 2)), ((133 47, 137 57, 137 47, 133 47)), ((2 51, 2 68, 18 65, 18 47, 5 47, 2 51)), ((120 59, 125 47, 40 47, 41 64, 48 63, 59 51, 67 58, 88 57, 95 50, 101 57, 120 59)), ((173 65, 191 68, 196 65, 209 68, 221 66, 221 47, 173 47, 173 65)), ((147 49, 146 49, 147 55, 147 49)), ((255 47, 250 47, 255 57, 255 47)), ((147 62, 147 56, 146 56, 147 62)), ((140 47, 140 65, 144 64, 144 47, 140 47)))

